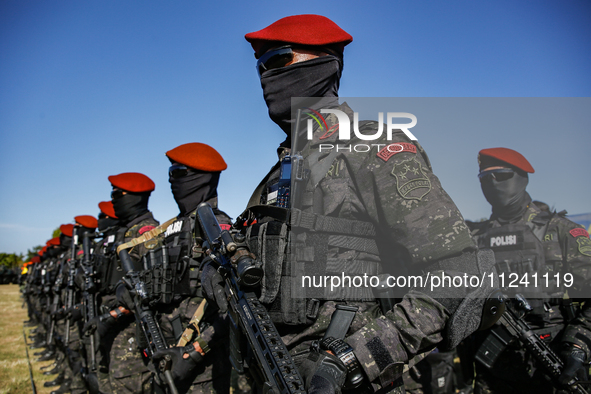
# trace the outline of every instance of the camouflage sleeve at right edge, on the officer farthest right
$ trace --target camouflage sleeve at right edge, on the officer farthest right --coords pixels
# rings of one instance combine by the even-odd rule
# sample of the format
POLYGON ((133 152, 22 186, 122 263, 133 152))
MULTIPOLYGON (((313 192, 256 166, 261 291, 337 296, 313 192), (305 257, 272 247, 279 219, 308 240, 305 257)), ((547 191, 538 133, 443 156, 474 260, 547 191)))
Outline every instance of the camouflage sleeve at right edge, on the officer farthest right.
POLYGON ((558 236, 565 262, 563 272, 574 277, 573 287, 568 289, 570 298, 580 301, 582 308, 577 317, 566 327, 563 341, 580 346, 587 357, 591 356, 591 240, 582 227, 566 219, 561 220, 558 236))

